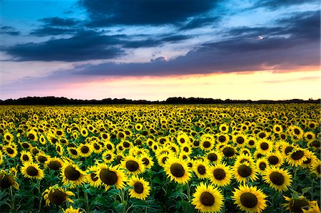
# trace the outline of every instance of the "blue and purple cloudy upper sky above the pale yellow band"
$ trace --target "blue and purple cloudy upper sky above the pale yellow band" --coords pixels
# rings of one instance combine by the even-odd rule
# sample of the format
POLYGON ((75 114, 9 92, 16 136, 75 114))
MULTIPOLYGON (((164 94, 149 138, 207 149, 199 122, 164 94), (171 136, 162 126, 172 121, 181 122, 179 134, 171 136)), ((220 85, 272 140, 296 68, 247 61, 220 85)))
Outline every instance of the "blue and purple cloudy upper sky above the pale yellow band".
POLYGON ((20 79, 21 87, 31 78, 290 72, 320 65, 315 0, 41 1, 25 15, 11 13, 17 4, 1 8, 1 77, 20 79), (51 71, 21 74, 25 63, 48 64, 51 71))

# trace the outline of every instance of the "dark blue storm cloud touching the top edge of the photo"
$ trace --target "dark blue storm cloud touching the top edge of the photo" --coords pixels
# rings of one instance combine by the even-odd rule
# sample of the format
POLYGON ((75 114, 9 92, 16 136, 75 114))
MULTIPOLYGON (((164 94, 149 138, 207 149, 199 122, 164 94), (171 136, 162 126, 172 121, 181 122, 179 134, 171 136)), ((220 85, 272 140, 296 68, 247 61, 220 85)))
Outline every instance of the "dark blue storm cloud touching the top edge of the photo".
POLYGON ((187 21, 210 11, 213 0, 81 0, 90 17, 89 26, 160 25, 187 21))

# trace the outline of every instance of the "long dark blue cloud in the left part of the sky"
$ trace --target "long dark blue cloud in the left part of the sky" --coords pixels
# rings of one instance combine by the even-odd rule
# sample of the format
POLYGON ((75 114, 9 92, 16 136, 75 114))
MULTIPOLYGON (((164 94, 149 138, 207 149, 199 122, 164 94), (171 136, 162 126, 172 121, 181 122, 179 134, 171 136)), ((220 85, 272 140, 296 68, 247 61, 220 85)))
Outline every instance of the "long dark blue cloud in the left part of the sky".
POLYGON ((41 43, 23 43, 3 48, 16 61, 86 61, 122 56, 116 36, 103 36, 96 31, 81 31, 71 38, 41 43))

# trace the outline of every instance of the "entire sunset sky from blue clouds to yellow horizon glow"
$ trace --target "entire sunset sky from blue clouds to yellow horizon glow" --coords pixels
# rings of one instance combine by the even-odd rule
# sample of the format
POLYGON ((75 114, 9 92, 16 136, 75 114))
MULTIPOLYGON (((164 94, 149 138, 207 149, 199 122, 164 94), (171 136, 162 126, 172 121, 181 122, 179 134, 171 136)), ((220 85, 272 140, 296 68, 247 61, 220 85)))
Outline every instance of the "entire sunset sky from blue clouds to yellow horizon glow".
POLYGON ((320 98, 319 0, 1 0, 0 99, 320 98))

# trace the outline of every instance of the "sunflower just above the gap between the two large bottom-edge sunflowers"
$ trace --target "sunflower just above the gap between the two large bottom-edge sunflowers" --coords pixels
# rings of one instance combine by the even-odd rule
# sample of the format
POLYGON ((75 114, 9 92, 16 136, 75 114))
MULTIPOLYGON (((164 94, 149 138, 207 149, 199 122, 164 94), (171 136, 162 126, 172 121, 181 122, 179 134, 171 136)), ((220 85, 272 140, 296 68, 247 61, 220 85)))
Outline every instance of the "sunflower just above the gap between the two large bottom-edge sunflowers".
POLYGON ((226 163, 218 163, 213 167, 210 167, 208 177, 211 182, 218 187, 230 185, 230 181, 232 180, 230 166, 227 166, 226 163))

